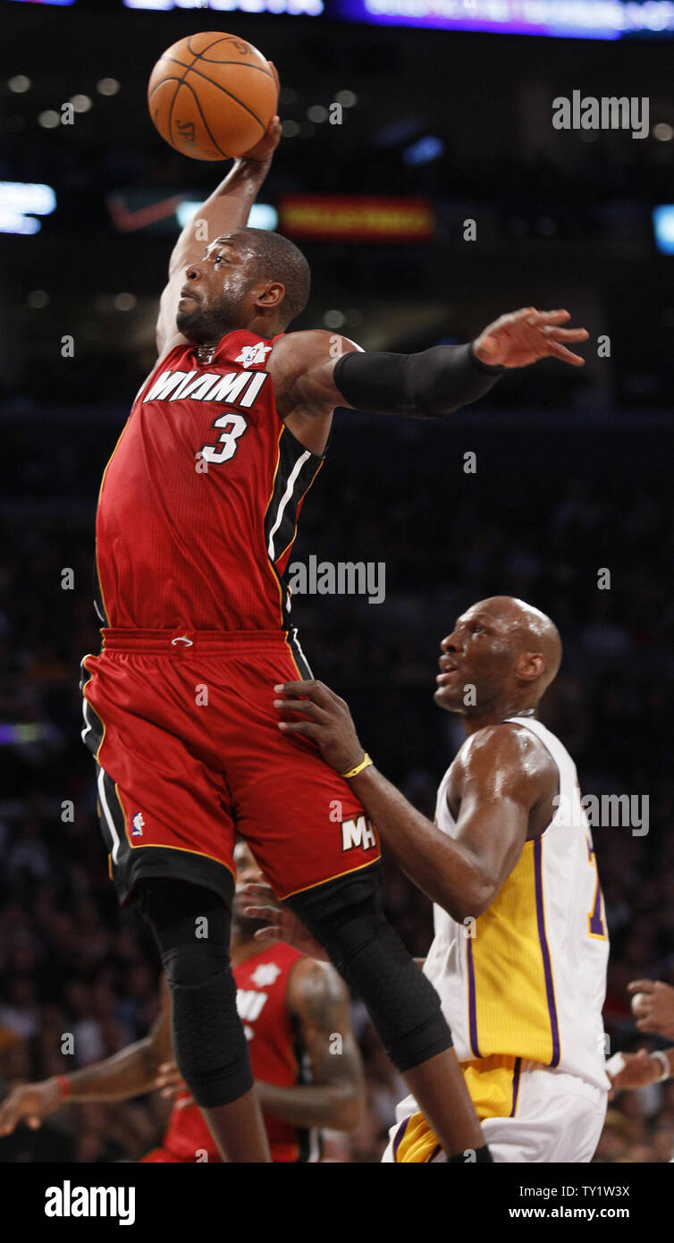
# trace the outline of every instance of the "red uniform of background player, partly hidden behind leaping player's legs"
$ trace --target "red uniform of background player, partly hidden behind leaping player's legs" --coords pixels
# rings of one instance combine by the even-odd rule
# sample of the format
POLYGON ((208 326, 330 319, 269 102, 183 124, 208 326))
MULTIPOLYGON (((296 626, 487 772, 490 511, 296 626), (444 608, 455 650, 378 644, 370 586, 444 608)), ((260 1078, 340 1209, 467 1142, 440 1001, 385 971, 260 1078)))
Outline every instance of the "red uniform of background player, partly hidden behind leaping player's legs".
MULTIPOLYGON (((291 1088, 301 1083, 305 1068, 289 1014, 286 993, 290 973, 298 958, 297 950, 277 943, 246 958, 233 968, 236 981, 236 1006, 249 1042, 254 1079, 291 1088)), ((148 1152, 147 1162, 220 1161, 201 1110, 192 1104, 189 1093, 180 1091, 170 1114, 160 1149, 148 1152)), ((317 1131, 303 1130, 265 1115, 272 1161, 317 1161, 317 1131)))

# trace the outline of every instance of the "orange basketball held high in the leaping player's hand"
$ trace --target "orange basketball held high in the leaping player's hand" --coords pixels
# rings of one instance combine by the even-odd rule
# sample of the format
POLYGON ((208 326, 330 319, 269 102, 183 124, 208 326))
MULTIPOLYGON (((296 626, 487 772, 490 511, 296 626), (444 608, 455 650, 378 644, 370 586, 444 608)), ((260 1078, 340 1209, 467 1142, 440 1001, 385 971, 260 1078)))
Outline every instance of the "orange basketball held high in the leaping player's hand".
POLYGON ((235 35, 201 31, 173 44, 148 85, 153 124, 192 159, 242 155, 266 133, 277 85, 269 61, 235 35))

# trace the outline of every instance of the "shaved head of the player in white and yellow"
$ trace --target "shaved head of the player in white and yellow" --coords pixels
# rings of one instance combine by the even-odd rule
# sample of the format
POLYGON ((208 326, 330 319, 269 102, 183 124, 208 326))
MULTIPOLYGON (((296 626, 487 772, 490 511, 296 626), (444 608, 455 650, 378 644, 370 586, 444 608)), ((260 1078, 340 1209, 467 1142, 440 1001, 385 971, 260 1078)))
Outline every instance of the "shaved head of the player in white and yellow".
POLYGON ((440 646, 435 702, 490 720, 535 710, 562 659, 555 623, 512 595, 473 604, 440 646))

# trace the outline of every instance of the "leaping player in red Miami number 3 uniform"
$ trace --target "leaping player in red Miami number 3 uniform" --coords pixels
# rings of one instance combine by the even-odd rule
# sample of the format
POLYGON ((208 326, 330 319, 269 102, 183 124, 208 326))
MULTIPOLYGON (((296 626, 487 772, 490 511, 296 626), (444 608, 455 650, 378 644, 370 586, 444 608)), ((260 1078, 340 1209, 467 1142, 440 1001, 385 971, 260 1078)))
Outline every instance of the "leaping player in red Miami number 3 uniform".
POLYGON ((246 227, 279 132, 275 118, 172 255, 159 358, 101 485, 103 648, 83 660, 82 736, 111 875, 153 929, 175 1059, 223 1155, 269 1160, 229 963, 238 832, 362 996, 450 1160, 489 1161, 438 996, 383 917, 379 844, 352 774, 276 728, 274 685, 310 675, 285 572, 336 406, 446 415, 507 368, 581 365, 567 347, 587 333, 532 307, 419 354, 286 333, 308 265, 246 227))

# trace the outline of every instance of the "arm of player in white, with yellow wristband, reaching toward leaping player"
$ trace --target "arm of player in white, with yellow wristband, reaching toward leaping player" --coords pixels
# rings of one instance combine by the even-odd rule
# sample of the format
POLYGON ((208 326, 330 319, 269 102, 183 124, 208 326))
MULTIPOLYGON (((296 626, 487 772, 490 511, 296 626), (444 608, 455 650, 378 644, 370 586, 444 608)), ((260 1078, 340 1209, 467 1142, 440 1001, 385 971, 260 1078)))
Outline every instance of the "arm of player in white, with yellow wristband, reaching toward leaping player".
POLYGON ((422 815, 364 752, 348 705, 322 682, 275 686, 279 728, 312 738, 326 763, 347 779, 403 871, 454 920, 476 919, 517 863, 529 814, 542 794, 543 772, 524 731, 489 726, 473 736, 458 773, 460 814, 448 837, 422 815), (301 697, 300 697, 301 696, 301 697), (289 720, 302 716, 305 720, 289 720), (366 757, 367 758, 367 757, 366 757))

